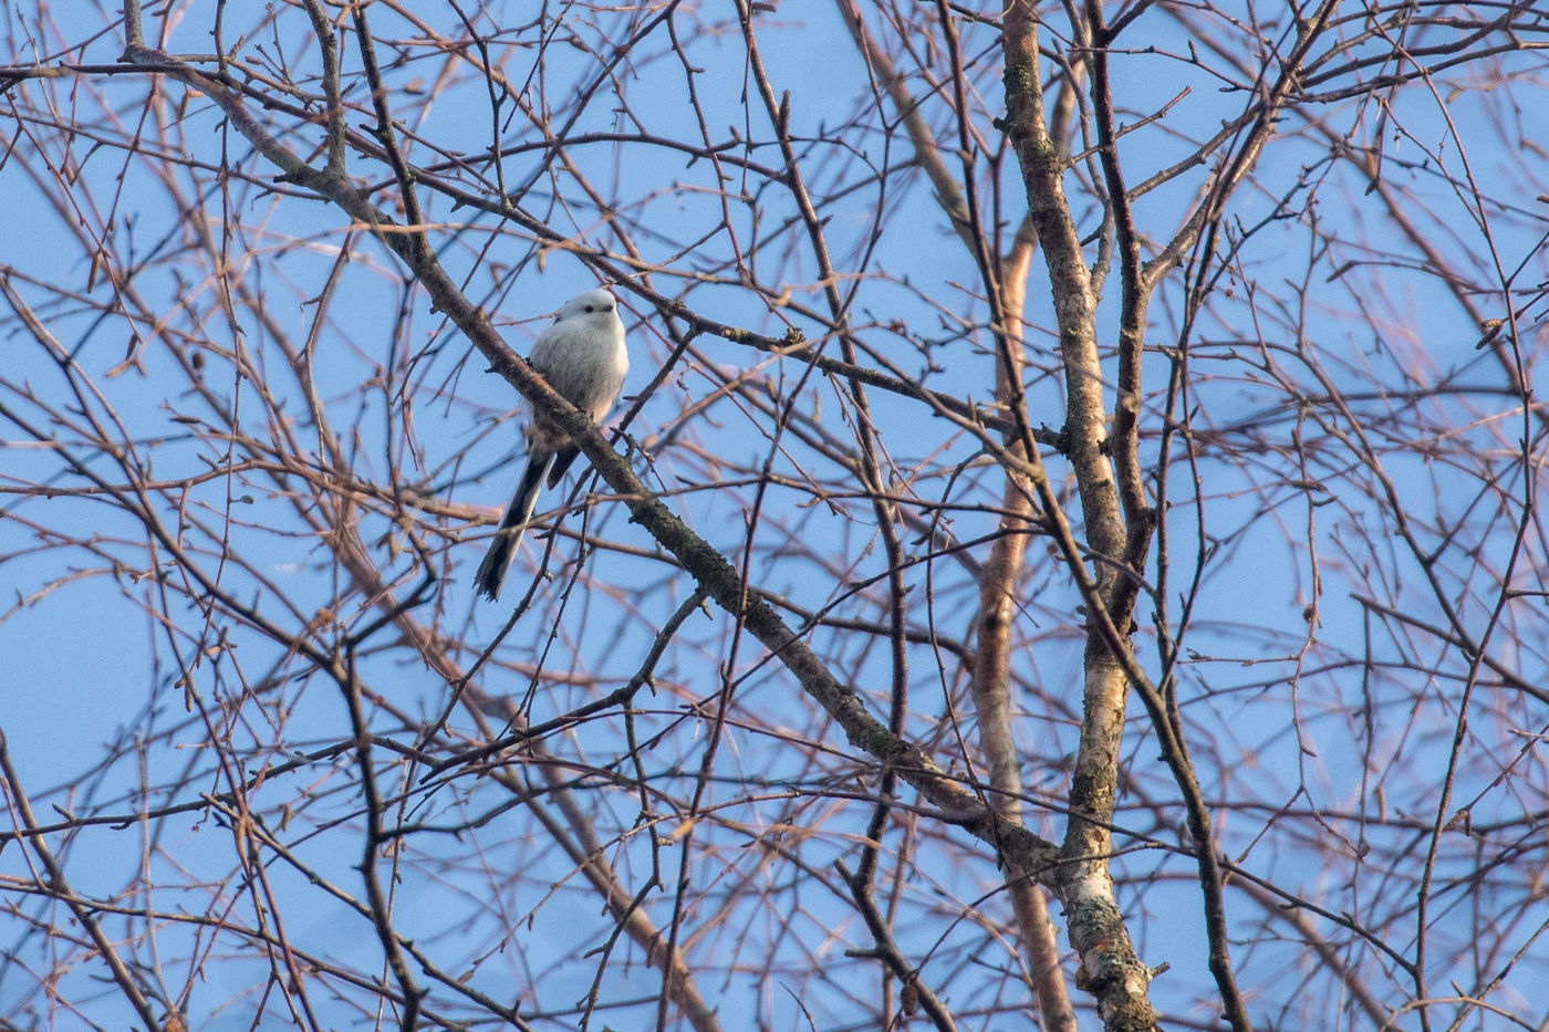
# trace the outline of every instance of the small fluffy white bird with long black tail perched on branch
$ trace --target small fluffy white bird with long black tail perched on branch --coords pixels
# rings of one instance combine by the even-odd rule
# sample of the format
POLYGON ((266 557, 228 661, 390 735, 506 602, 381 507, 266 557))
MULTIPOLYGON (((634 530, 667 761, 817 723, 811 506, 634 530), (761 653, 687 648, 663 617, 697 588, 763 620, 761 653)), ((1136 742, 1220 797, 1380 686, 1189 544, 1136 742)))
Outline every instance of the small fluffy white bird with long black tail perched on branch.
MULTIPOLYGON (((570 404, 586 412, 593 423, 601 423, 618 401, 629 373, 629 350, 624 347, 618 301, 601 287, 567 301, 555 322, 538 335, 528 363, 570 404)), ((505 507, 489 552, 474 575, 477 593, 489 601, 500 598, 500 584, 516 558, 527 521, 533 516, 544 474, 548 474, 548 488, 553 490, 579 452, 570 435, 553 420, 542 412, 533 414, 527 428, 527 470, 516 485, 511 504, 505 507)))

